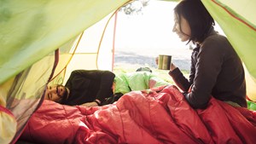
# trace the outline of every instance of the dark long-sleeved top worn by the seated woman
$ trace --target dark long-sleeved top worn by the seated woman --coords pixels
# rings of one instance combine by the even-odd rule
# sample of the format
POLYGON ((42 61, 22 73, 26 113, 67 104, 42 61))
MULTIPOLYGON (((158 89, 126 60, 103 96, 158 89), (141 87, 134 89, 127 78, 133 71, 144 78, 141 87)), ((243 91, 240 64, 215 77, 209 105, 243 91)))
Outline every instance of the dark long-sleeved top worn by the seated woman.
POLYGON ((221 101, 233 101, 247 107, 243 66, 228 39, 212 30, 193 50, 189 80, 180 70, 169 72, 192 107, 204 108, 211 95, 221 101))

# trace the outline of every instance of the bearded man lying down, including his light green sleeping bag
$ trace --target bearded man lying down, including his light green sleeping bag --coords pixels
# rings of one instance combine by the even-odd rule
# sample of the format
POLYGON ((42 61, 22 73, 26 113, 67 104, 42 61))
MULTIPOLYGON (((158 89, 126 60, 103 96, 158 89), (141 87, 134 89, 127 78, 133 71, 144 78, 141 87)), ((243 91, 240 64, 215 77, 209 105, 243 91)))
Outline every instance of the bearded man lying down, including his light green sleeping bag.
POLYGON ((118 101, 122 95, 132 90, 151 89, 168 84, 154 75, 148 67, 117 75, 100 70, 75 70, 65 86, 49 86, 44 98, 70 106, 95 107, 118 101))

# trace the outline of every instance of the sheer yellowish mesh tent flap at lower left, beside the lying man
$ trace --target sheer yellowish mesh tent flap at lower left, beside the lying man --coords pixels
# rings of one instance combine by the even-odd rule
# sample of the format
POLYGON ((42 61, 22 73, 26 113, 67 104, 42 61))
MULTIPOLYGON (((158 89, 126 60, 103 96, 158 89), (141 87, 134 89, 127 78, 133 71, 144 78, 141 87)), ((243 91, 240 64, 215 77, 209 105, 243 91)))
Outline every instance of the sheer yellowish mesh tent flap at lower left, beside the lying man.
MULTIPOLYGON (((54 57, 54 55, 44 57, 44 59, 39 60, 33 66, 20 72, 11 80, 10 84, 3 84, 3 87, 0 87, 1 92, 4 91, 5 93, 3 95, 7 95, 4 99, 5 105, 3 107, 8 109, 15 118, 16 131, 15 135, 13 135, 15 137, 13 141, 16 141, 24 129, 27 120, 40 106, 40 100, 41 102, 44 100, 42 95, 48 83, 49 75, 52 72, 53 63, 51 62, 55 60, 54 57), (26 100, 29 100, 29 102, 26 100), (23 103, 23 101, 26 101, 26 103, 23 103)), ((9 123, 9 125, 5 126, 12 127, 12 124, 9 123)))

